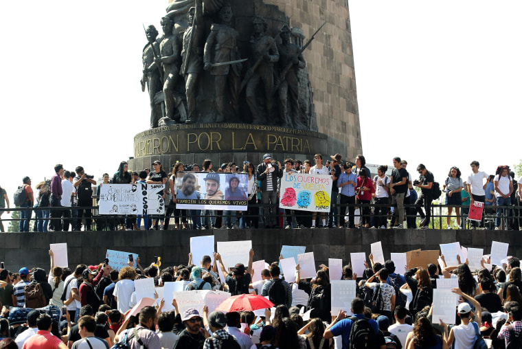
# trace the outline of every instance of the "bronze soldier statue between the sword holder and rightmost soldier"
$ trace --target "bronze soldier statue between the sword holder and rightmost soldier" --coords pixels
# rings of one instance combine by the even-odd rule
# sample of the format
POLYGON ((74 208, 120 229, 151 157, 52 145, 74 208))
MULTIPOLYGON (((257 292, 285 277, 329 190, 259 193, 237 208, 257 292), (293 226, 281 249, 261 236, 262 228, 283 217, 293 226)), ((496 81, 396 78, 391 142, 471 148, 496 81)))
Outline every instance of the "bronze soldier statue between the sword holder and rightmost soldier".
MULTIPOLYGON (((265 35, 268 24, 262 16, 253 19, 253 36, 250 40, 251 62, 256 62, 251 69, 253 74, 247 82, 247 104, 252 113, 252 124, 274 124, 272 116, 272 89, 273 89, 273 64, 279 60, 279 52, 273 37, 265 35), (260 110, 256 102, 256 87, 262 82, 264 98, 266 100, 266 114, 268 120, 262 120, 260 110)), ((249 73, 247 72, 247 77, 249 73)))

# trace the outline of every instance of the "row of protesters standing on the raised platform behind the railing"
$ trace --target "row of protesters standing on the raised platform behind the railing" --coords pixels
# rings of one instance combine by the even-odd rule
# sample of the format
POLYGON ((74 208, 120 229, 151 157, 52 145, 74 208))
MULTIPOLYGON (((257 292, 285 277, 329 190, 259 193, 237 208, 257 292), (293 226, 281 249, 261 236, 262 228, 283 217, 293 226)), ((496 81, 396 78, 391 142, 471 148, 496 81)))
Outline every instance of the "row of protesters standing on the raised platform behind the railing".
MULTIPOLYGON (((23 178, 20 187, 25 200, 21 211, 19 231, 28 232, 32 218, 31 207, 36 210, 33 230, 36 232, 93 229, 93 197, 107 183, 151 183, 165 185, 161 193, 166 205, 166 214, 161 216, 126 216, 109 218, 95 216, 95 228, 102 229, 236 229, 236 228, 304 228, 304 227, 361 227, 402 229, 429 227, 432 220, 432 203, 445 192, 444 204, 448 206, 446 227, 464 229, 470 205, 475 201, 484 203, 481 221, 470 221, 471 228, 480 229, 522 229, 520 205, 522 176, 517 181, 508 166, 498 166, 495 175, 479 170, 479 162, 470 163, 470 174, 461 176, 461 170, 453 166, 448 176, 438 183, 433 173, 419 164, 416 168, 418 179, 407 170, 407 161, 395 157, 391 173, 388 167, 378 166, 372 175, 367 168, 365 157, 358 155, 354 163, 343 161, 339 154, 328 160, 316 154, 313 161, 294 159, 280 161, 265 154, 258 166, 245 161, 242 168, 234 162, 214 168, 212 161, 198 164, 177 162, 167 173, 160 161, 154 161, 152 170, 139 172, 128 170, 122 161, 117 172, 111 177, 105 173, 102 183, 97 185, 93 176, 85 173, 81 166, 76 171, 64 170, 61 164, 55 166, 55 175, 49 181, 38 183, 34 190, 30 177, 23 178), (179 172, 242 172, 248 175, 248 209, 245 212, 218 210, 180 210, 176 207, 176 178, 179 172), (323 175, 332 178, 332 203, 328 214, 282 210, 279 207, 281 179, 284 173, 299 172, 323 175), (466 179, 466 180, 464 180, 466 179), (97 192, 94 193, 93 189, 97 192), (42 210, 46 207, 46 210, 42 210), (87 208, 86 208, 87 207, 87 208), (507 207, 507 208, 506 208, 507 207), (512 207, 512 208, 510 208, 512 207), (455 209, 455 216, 453 210, 455 209), (484 218, 496 218, 486 224, 484 218), (416 217, 419 217, 418 221, 416 217), (455 218, 453 218, 455 217, 455 218), (174 224, 170 223, 174 218, 174 224), (456 225, 452 223, 453 219, 456 225)), ((20 190, 19 188, 19 190, 20 190)), ((0 214, 10 208, 10 201, 4 189, 0 188, 0 214), (3 209, 3 210, 1 210, 3 209)), ((440 202, 442 203, 442 202, 440 202)), ((433 225, 432 225, 433 226, 433 225)), ((0 221, 0 229, 3 225, 0 221)))

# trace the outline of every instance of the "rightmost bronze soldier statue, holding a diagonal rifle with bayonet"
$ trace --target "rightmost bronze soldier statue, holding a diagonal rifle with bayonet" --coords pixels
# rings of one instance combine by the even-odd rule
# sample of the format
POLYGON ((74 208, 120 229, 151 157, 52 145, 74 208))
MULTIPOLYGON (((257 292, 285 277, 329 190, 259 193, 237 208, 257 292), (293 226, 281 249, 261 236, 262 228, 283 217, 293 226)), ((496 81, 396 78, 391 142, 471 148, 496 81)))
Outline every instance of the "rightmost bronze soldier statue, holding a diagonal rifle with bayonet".
POLYGON ((290 69, 286 71, 284 76, 279 78, 279 113, 282 124, 285 127, 297 128, 299 130, 306 129, 306 124, 299 117, 299 79, 297 78, 298 69, 306 67, 302 53, 299 53, 299 46, 291 43, 291 30, 288 25, 284 24, 280 30, 282 43, 277 45, 279 50, 279 74, 282 74, 284 67, 290 65, 290 69), (290 106, 288 112, 287 105, 290 106))

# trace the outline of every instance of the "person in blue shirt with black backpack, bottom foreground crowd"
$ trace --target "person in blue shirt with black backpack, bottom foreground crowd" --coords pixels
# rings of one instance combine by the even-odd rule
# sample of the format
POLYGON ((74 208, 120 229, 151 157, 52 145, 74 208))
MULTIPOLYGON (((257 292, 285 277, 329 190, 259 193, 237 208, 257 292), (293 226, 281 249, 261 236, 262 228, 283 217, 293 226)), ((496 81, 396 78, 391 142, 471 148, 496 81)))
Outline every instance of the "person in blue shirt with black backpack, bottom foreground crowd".
POLYGON ((385 349, 385 339, 374 319, 368 319, 364 315, 364 301, 354 298, 350 306, 354 314, 347 317, 346 312, 339 311, 337 317, 324 330, 323 337, 330 339, 341 336, 343 349, 385 349))

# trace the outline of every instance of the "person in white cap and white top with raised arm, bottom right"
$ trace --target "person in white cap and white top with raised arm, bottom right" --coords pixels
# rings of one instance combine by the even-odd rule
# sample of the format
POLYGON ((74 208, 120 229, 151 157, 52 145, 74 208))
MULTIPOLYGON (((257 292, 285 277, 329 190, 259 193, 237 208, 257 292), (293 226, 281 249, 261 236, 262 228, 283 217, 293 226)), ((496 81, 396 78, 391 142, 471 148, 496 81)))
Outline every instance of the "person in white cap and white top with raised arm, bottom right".
POLYGON ((459 304, 457 308, 457 315, 460 317, 460 324, 453 326, 448 333, 448 325, 444 324, 442 319, 440 325, 444 328, 444 340, 448 344, 448 348, 452 348, 455 342, 455 348, 473 348, 475 343, 476 329, 480 328, 482 323, 480 303, 475 298, 470 297, 462 292, 459 288, 451 289, 453 293, 457 293, 464 298, 465 302, 459 304), (470 303, 475 307, 477 314, 471 310, 470 303), (473 321, 475 320, 475 321, 473 321))

